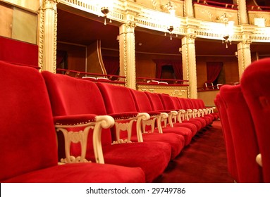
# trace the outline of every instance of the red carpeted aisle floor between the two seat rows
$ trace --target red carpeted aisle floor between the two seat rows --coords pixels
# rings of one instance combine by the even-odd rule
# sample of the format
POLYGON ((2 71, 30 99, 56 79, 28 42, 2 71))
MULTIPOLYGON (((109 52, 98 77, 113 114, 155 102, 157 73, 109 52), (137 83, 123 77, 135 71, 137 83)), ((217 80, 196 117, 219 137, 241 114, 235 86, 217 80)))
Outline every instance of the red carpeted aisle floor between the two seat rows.
POLYGON ((232 183, 221 122, 216 120, 212 127, 198 133, 155 182, 232 183))

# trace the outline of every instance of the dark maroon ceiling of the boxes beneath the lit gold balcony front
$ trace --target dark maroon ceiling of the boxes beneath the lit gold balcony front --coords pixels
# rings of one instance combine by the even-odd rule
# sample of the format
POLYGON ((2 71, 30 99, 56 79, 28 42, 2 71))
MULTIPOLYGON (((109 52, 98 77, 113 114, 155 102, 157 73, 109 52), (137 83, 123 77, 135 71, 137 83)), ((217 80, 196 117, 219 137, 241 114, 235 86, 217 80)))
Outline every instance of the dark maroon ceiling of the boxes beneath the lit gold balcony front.
MULTIPOLYGON (((104 18, 72 9, 63 5, 58 7, 58 42, 89 45, 99 39, 102 41, 102 48, 119 49, 116 38, 119 34, 118 26, 121 24, 107 21, 107 25, 104 25, 104 18)), ((164 36, 164 32, 145 32, 142 28, 135 27, 135 50, 144 53, 179 54, 181 38, 174 35, 170 40, 168 34, 164 36)), ((228 45, 226 49, 220 40, 196 39, 195 47, 197 56, 234 56, 237 51, 236 44, 228 45)), ((270 56, 270 43, 266 46, 252 44, 251 51, 262 56, 270 56)))

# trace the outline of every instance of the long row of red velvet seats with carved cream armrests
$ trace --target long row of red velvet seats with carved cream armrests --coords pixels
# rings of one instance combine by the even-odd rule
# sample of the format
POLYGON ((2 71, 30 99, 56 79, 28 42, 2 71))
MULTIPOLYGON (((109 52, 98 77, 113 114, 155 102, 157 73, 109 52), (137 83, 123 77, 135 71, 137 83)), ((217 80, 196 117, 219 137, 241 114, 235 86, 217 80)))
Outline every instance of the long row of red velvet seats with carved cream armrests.
POLYGON ((199 99, 0 65, 1 182, 152 182, 216 119, 199 99))

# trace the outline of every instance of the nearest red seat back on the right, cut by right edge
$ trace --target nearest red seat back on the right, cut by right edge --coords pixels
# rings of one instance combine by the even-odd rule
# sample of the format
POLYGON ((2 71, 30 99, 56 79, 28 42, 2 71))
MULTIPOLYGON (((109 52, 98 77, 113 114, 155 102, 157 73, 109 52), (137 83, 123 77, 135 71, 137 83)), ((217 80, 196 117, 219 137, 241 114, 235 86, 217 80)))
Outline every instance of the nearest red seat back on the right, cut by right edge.
POLYGON ((264 182, 270 182, 270 58, 253 62, 243 73, 240 85, 254 122, 262 154, 264 182))

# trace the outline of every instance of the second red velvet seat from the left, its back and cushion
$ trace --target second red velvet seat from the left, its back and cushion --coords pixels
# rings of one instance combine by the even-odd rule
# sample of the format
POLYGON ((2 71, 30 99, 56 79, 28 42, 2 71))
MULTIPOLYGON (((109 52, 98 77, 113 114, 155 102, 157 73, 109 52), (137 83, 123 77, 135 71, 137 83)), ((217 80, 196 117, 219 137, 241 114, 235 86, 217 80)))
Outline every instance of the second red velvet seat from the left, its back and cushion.
MULTIPOLYGON (((55 75, 47 71, 42 72, 42 75, 47 84, 54 115, 107 114, 102 94, 96 83, 66 75, 55 75)), ((113 114, 116 119, 116 129, 102 130, 104 163, 141 167, 145 172, 146 181, 152 182, 168 165, 171 158, 171 146, 161 142, 121 144, 120 141, 117 141, 118 144, 113 144, 111 139, 113 131, 119 128, 122 130, 127 129, 129 127, 127 121, 134 122, 136 115, 137 113, 113 114)), ((61 144, 63 139, 61 140, 60 136, 59 140, 59 144, 61 144)), ((130 139, 127 142, 129 141, 130 139)), ((88 138, 87 142, 86 158, 93 160, 92 139, 88 138)), ((71 144, 71 148, 71 155, 80 155, 80 147, 71 144)))

